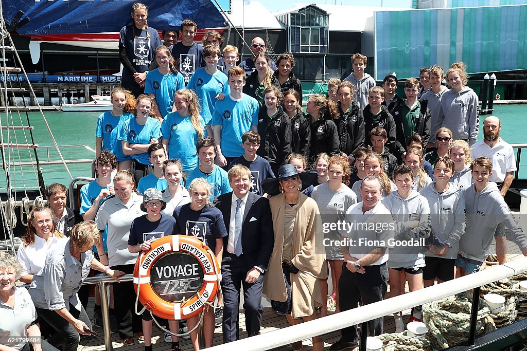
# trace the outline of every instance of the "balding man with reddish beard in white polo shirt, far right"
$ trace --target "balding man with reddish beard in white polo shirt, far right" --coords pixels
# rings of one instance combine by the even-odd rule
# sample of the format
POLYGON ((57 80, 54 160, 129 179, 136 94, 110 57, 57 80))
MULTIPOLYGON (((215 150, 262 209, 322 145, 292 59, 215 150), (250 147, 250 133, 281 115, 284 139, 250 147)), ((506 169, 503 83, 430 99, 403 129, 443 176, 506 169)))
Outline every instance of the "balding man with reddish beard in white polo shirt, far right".
MULTIPOLYGON (((492 161, 490 182, 495 182, 502 196, 505 196, 511 186, 516 171, 516 162, 512 146, 500 137, 501 123, 496 116, 490 116, 483 121, 484 139, 475 143, 471 149, 472 159, 486 156, 492 161)), ((500 264, 507 260, 507 239, 505 225, 500 223, 494 233, 496 239, 496 256, 500 264)))

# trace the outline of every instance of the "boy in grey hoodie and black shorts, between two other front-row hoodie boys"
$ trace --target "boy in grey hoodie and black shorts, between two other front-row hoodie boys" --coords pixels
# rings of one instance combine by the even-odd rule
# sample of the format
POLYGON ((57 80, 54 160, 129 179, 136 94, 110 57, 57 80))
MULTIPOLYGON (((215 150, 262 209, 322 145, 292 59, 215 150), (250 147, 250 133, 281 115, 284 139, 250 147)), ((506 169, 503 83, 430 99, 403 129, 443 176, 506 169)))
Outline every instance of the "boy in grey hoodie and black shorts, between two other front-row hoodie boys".
POLYGON ((454 173, 454 162, 450 157, 436 159, 435 180, 421 190, 428 201, 432 219, 432 232, 425 253, 423 268, 425 287, 454 279, 454 261, 459 251, 459 241, 465 233, 465 198, 460 189, 449 180, 454 173), (433 240, 432 240, 433 239, 433 240))

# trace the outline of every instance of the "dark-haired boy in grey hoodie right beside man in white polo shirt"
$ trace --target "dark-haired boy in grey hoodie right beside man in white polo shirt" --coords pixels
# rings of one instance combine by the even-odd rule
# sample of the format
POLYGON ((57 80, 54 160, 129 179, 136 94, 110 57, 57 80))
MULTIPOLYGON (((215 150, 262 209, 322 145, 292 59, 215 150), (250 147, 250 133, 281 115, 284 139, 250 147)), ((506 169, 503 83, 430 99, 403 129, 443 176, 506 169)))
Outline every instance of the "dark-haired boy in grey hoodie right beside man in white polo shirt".
MULTIPOLYGON (((384 206, 395 221, 394 248, 390 249, 388 257, 390 297, 404 293, 404 285, 401 284, 403 269, 411 292, 423 287, 424 238, 430 235, 430 208, 426 199, 412 190, 413 177, 407 166, 395 168, 397 190, 383 199, 384 206)), ((402 332, 404 324, 401 314, 395 313, 394 319, 396 332, 402 332)))

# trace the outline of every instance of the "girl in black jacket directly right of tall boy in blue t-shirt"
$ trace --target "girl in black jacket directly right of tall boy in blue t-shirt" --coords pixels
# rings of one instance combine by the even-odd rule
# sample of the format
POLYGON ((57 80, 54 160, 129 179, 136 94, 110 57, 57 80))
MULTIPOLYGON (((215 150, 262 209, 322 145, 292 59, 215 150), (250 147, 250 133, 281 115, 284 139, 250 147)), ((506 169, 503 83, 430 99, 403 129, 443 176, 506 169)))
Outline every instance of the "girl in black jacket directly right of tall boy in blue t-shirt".
POLYGON ((287 163, 291 153, 291 121, 280 106, 282 93, 276 86, 265 89, 264 102, 258 116, 261 140, 256 154, 267 159, 272 172, 278 174, 278 168, 287 163))

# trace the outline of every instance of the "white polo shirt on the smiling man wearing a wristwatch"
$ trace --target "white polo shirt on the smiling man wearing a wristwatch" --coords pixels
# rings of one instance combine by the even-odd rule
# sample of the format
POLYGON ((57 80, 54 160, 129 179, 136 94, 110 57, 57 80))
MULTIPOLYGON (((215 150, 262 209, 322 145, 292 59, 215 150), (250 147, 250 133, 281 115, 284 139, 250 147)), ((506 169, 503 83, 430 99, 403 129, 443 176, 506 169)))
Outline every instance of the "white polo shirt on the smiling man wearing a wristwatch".
POLYGON ((374 208, 363 213, 364 202, 348 208, 344 222, 349 226, 340 228, 341 236, 349 239, 348 252, 360 259, 376 247, 386 247, 383 257, 370 266, 381 265, 388 260, 388 248, 393 248, 389 239, 394 238, 395 225, 389 210, 380 202, 374 208))

